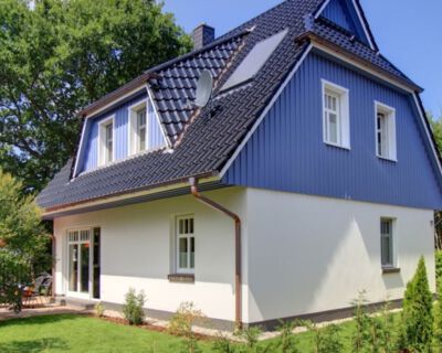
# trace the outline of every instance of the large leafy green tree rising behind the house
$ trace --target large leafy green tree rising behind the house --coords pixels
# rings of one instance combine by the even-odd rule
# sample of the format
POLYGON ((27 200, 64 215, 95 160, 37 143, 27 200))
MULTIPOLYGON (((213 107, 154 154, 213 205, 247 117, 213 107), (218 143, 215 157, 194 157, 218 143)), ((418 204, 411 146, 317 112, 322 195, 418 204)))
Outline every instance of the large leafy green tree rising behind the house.
POLYGON ((78 110, 190 49, 155 0, 1 0, 0 167, 39 191, 75 153, 78 110))

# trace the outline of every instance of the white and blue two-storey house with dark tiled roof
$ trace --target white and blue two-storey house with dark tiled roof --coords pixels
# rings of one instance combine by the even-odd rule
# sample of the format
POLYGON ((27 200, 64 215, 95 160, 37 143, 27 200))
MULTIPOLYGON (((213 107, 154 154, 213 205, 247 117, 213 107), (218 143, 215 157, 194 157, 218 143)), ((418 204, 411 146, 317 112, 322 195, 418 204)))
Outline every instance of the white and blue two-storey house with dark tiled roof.
MULTIPOLYGON (((39 195, 55 292, 213 324, 399 302, 419 257, 435 290, 441 160, 415 83, 357 0, 287 0, 81 111, 75 158, 39 195), (206 106, 194 104, 204 71, 206 106)), ((406 39, 404 39, 406 40, 406 39)), ((418 63, 417 63, 418 65, 418 63)))

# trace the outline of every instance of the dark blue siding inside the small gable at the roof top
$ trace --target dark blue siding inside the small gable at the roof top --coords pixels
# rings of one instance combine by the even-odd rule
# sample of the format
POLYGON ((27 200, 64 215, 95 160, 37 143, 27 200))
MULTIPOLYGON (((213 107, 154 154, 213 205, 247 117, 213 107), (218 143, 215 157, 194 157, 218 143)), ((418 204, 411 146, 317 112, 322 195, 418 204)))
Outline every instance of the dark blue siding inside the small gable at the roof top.
POLYGON ((368 44, 368 39, 351 0, 330 0, 322 15, 347 31, 355 33, 361 42, 368 44))

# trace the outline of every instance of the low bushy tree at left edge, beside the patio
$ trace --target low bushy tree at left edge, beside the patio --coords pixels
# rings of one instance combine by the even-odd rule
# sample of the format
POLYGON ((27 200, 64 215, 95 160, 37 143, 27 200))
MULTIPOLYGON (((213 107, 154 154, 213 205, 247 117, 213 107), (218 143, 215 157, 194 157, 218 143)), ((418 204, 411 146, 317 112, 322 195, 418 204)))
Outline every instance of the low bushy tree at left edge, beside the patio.
POLYGON ((20 310, 20 285, 51 266, 40 210, 22 184, 0 170, 0 302, 20 310))

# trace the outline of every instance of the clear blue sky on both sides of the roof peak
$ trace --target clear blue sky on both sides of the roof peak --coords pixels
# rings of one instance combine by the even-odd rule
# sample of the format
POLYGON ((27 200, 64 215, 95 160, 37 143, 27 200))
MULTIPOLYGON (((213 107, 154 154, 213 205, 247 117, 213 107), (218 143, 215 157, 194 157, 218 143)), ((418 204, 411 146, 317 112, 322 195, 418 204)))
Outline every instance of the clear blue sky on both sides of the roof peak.
MULTIPOLYGON (((217 36, 281 0, 165 0, 165 10, 191 32, 206 22, 217 36)), ((422 86, 428 110, 442 115, 442 1, 361 0, 380 51, 422 86)))

